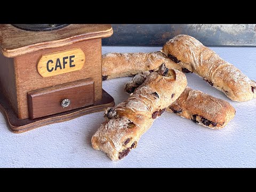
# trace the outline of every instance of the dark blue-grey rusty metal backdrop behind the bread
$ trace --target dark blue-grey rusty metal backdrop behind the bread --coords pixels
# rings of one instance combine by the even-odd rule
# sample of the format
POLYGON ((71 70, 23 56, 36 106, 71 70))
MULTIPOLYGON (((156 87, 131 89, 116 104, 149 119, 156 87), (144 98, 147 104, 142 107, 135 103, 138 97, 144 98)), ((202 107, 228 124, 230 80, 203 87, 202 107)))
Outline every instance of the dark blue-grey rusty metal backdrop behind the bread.
POLYGON ((187 34, 206 46, 256 46, 256 24, 112 24, 114 34, 102 39, 109 46, 163 46, 187 34))

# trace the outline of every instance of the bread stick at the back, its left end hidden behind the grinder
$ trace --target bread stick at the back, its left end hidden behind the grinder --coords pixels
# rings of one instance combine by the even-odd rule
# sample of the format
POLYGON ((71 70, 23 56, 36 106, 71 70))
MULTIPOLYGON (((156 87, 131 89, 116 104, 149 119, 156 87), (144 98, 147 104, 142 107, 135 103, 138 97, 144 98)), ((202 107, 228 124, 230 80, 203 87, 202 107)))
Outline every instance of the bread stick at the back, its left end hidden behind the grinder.
MULTIPOLYGON (((102 55, 102 80, 133 76, 140 71, 156 71, 165 63, 169 69, 182 70, 181 66, 167 58, 165 54, 150 53, 107 53, 102 55)), ((185 72, 186 69, 183 71, 185 72)))

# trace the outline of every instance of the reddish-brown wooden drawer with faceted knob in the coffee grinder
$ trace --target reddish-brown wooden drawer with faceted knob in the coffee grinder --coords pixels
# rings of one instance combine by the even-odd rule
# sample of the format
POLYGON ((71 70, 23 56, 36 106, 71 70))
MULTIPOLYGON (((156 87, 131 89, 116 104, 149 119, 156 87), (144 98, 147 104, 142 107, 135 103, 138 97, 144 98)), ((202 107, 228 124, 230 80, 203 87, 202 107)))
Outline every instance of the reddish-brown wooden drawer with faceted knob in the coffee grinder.
POLYGON ((93 104, 94 81, 91 78, 28 92, 30 119, 93 104))

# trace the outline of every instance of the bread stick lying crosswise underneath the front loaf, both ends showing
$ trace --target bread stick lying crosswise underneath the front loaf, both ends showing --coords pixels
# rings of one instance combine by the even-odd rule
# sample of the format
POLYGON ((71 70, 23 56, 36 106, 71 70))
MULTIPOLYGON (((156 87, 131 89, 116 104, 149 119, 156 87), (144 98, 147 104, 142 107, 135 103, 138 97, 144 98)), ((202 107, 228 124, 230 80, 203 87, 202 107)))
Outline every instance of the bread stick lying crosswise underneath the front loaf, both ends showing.
MULTIPOLYGON (((125 92, 133 93, 146 81, 149 74, 148 71, 142 71, 135 75, 131 81, 125 84, 125 92)), ((180 97, 166 110, 210 129, 222 129, 234 118, 236 113, 235 108, 227 101, 189 87, 186 87, 180 97)))

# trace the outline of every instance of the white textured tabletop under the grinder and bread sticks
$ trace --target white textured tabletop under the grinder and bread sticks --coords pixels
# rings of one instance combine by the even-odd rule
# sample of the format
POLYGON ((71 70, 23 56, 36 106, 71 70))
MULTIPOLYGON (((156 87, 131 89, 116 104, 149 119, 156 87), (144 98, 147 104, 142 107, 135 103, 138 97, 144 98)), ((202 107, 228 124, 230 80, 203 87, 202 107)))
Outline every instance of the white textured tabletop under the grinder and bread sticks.
MULTIPOLYGON (((211 47, 249 78, 256 80, 256 47, 211 47)), ((161 47, 102 47, 108 52, 151 52, 161 47)), ((193 89, 224 99, 236 109, 222 130, 211 130, 165 112, 142 135, 136 149, 121 161, 94 150, 91 137, 104 121, 103 112, 15 134, 0 114, 0 167, 255 167, 256 99, 234 102, 201 77, 186 74, 193 89)), ((131 77, 103 82, 116 104, 128 94, 123 85, 131 77)))

